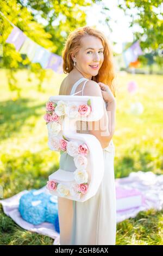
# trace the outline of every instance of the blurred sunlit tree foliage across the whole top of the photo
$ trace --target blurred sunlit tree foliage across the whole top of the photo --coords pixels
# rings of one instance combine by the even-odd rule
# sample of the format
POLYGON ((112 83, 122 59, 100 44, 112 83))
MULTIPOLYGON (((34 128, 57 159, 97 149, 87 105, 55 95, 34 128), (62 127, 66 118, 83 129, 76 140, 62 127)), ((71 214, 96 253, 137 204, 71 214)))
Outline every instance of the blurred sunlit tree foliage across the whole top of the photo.
MULTIPOLYGON (((118 8, 131 17, 130 27, 139 26, 140 28, 139 32, 135 31, 134 40, 141 40, 140 46, 145 54, 140 56, 139 59, 142 64, 151 66, 151 72, 153 63, 159 65, 160 68, 163 65, 163 58, 158 54, 159 45, 163 41, 161 2, 161 0, 118 1, 118 8)), ((101 5, 101 12, 104 15, 103 22, 111 32, 111 10, 106 7, 102 0, 0 0, 0 11, 30 39, 61 56, 68 34, 75 28, 86 25, 85 10, 95 3, 101 5)), ((12 44, 5 42, 11 29, 12 26, 0 14, 0 44, 3 45, 3 58, 0 57, 0 68, 8 69, 9 89, 16 91, 17 97, 20 97, 22 87, 17 86, 15 78, 15 72, 18 69, 27 68, 34 72, 38 78, 37 90, 42 89, 41 84, 47 76, 47 72, 41 68, 39 63, 31 63, 26 55, 16 52, 12 44)), ((115 44, 115 42, 113 43, 115 44)), ((130 43, 126 44, 125 47, 129 46, 130 43)))

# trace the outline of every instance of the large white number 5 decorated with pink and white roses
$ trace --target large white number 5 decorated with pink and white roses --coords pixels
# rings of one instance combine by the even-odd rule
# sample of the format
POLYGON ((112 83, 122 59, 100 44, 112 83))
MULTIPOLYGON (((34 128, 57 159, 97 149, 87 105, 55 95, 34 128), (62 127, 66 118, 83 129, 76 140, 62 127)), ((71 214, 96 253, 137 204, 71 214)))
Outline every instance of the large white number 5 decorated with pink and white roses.
POLYGON ((77 133, 77 121, 97 121, 104 114, 99 96, 58 95, 46 103, 48 147, 73 157, 74 170, 58 169, 48 177, 55 196, 85 202, 95 196, 104 174, 103 150, 91 134, 77 133))

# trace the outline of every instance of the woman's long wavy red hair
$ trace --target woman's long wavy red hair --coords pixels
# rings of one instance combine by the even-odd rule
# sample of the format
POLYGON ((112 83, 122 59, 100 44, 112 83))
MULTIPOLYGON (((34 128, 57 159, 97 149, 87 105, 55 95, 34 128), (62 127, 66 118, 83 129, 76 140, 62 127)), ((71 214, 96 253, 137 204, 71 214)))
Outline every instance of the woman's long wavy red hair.
POLYGON ((104 47, 104 61, 101 66, 101 68, 98 71, 98 74, 96 76, 92 76, 92 80, 95 82, 102 82, 104 84, 107 84, 111 92, 114 96, 115 95, 115 84, 114 84, 114 78, 115 78, 115 69, 114 69, 114 62, 113 62, 113 53, 111 50, 111 46, 109 44, 108 39, 106 36, 101 32, 98 31, 95 28, 92 28, 90 26, 84 26, 75 29, 72 31, 64 44, 64 48, 62 50, 62 59, 63 64, 62 68, 64 70, 64 73, 70 73, 70 71, 73 69, 73 60, 71 58, 71 54, 76 54, 81 45, 81 39, 85 35, 93 35, 96 36, 96 38, 101 39, 103 47, 104 47))

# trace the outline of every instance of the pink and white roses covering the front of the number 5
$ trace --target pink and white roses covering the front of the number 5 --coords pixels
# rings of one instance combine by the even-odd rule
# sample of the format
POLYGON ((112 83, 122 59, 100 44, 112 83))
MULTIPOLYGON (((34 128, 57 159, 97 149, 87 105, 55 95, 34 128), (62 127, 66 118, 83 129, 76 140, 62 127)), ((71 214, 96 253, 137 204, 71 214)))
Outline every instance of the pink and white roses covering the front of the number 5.
POLYGON ((76 102, 62 100, 52 100, 46 103, 46 114, 43 118, 46 120, 48 129, 48 147, 51 150, 60 151, 60 153, 67 153, 72 156, 76 166, 76 170, 73 172, 74 180, 69 186, 57 180, 47 181, 47 189, 49 191, 56 191, 60 196, 66 197, 71 194, 71 196, 80 198, 89 189, 89 175, 86 171, 87 156, 89 154, 87 144, 70 141, 64 135, 58 135, 65 116, 68 118, 87 117, 91 111, 90 99, 85 104, 80 105, 76 102))

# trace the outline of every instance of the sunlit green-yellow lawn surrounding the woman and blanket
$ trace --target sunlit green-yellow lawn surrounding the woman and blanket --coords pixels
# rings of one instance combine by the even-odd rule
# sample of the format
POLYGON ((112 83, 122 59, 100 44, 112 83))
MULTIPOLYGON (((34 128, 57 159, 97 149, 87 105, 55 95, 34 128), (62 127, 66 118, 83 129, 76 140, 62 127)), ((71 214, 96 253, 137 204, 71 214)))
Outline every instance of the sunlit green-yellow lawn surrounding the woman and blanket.
MULTIPOLYGON (((48 175, 59 167, 59 153, 47 147, 47 127, 43 114, 50 95, 59 92, 65 75, 47 72, 37 92, 37 80, 33 74, 28 81, 26 70, 17 72, 21 98, 9 92, 7 74, 0 70, 0 184, 4 198, 22 190, 46 185, 48 175)), ((162 76, 117 75, 116 131, 113 137, 115 178, 128 176, 130 172, 152 171, 163 174, 163 93, 162 76), (127 83, 135 80, 139 90, 135 95, 127 91, 127 83), (140 101, 141 115, 129 113, 131 102, 140 101)), ((0 208, 1 245, 52 245, 53 240, 20 228, 0 208)), ((117 245, 162 245, 163 211, 154 209, 140 212, 135 218, 117 224, 117 245)))

